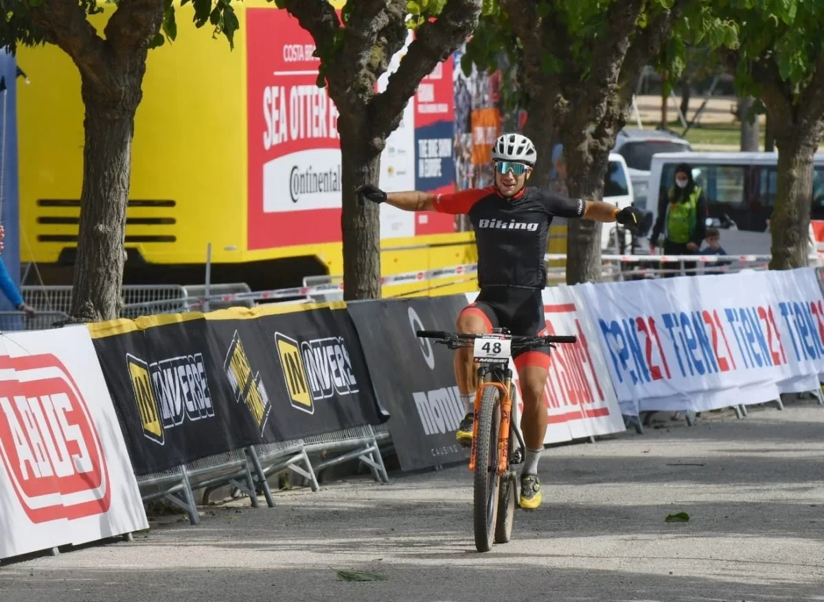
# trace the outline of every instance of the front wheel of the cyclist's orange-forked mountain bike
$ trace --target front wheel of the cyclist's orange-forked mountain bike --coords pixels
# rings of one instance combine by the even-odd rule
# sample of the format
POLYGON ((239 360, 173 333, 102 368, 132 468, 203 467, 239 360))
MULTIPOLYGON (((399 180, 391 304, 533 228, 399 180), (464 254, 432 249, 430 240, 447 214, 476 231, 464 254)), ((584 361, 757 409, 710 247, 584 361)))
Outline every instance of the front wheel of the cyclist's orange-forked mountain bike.
POLYGON ((478 434, 475 442, 475 499, 472 508, 475 548, 489 552, 498 515, 498 434, 501 425, 500 392, 486 387, 480 398, 478 434))

